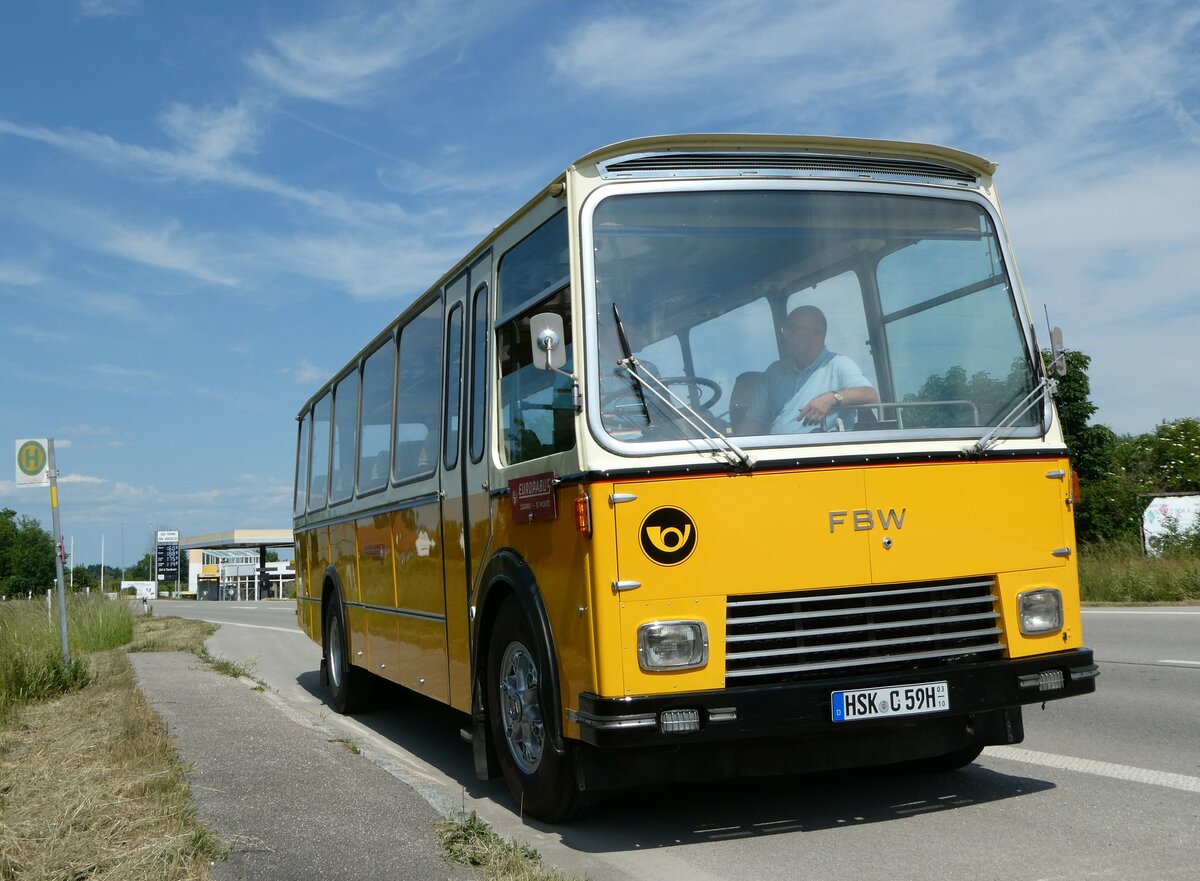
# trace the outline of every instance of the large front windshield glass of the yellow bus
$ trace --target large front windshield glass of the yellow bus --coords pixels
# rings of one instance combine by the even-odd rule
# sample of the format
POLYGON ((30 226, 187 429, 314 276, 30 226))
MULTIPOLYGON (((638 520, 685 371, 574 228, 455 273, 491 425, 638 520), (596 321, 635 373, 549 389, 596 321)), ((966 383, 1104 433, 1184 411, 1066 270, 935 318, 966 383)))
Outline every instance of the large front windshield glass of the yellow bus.
POLYGON ((614 194, 587 221, 593 413, 618 445, 704 424, 763 447, 977 438, 1034 388, 974 200, 695 187, 614 194))

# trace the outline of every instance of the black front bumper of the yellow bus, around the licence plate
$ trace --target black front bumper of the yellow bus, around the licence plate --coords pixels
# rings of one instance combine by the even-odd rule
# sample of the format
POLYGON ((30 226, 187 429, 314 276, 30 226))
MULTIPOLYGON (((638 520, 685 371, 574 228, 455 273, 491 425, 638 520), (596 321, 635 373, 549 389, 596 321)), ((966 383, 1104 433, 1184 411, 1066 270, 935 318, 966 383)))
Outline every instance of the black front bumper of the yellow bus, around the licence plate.
MULTIPOLYGON (((858 731, 965 724, 976 743, 1019 743, 1013 714, 1000 711, 1026 703, 1061 700, 1096 690, 1099 670, 1092 651, 1080 648, 1036 658, 982 661, 917 671, 874 672, 773 685, 745 685, 721 691, 599 697, 580 695, 568 719, 580 726, 580 738, 601 748, 665 747, 720 743, 751 738, 844 736, 858 731), (833 694, 857 689, 947 683, 949 708, 924 714, 900 714, 856 721, 835 721, 833 694), (973 719, 988 720, 974 731, 973 719), (995 730, 995 721, 1001 729, 995 730), (1009 730, 1003 730, 1004 725, 1009 730)), ((1020 725, 1020 714, 1015 714, 1020 725)))

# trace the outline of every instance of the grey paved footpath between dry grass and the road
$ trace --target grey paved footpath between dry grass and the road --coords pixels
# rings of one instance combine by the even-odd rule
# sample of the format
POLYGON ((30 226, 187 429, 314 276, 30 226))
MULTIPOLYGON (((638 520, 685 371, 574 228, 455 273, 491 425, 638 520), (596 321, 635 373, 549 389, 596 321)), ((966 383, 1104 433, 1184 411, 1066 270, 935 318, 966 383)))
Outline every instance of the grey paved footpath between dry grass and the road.
POLYGON ((270 689, 245 677, 248 688, 229 688, 187 653, 128 657, 190 766, 197 814, 230 849, 214 877, 473 877, 445 862, 433 837, 449 811, 439 816, 397 774, 380 777, 374 756, 362 761, 270 689))

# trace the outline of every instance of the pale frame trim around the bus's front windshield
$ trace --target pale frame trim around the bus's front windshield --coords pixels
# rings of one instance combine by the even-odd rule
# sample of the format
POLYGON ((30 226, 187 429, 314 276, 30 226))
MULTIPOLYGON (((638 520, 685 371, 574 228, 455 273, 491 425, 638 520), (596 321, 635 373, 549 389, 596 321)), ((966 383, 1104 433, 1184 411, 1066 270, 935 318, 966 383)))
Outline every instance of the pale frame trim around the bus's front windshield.
MULTIPOLYGON (((580 259, 582 274, 582 320, 584 346, 582 350, 583 382, 586 388, 584 414, 588 432, 592 438, 605 450, 626 459, 647 459, 671 454, 701 455, 703 459, 721 459, 721 455, 713 449, 710 442, 703 438, 679 438, 670 440, 626 442, 610 434, 600 418, 600 364, 599 364, 599 330, 596 320, 596 293, 595 293, 595 252, 592 246, 594 227, 593 217, 596 209, 606 199, 625 194, 644 193, 679 193, 679 192, 714 192, 714 191, 744 191, 744 192, 842 192, 842 193, 872 193, 880 196, 907 196, 918 198, 948 199, 968 202, 980 208, 988 216, 996 234, 1000 247, 1000 257, 1004 280, 1008 284, 1009 298, 1018 318, 1018 331, 1020 336, 1024 355, 1032 364, 1032 379, 1037 384, 1044 374, 1040 366, 1040 358, 1031 358, 1036 353, 1036 343, 1032 337, 1032 324, 1027 313, 1024 290, 1020 286, 1020 277, 1015 269, 1015 262, 1009 250, 1007 228, 1003 223, 1000 209, 986 197, 974 190, 966 190, 956 186, 920 184, 905 185, 895 182, 860 181, 852 182, 845 180, 637 180, 614 181, 598 186, 583 200, 580 208, 580 259)), ((1045 438, 1050 430, 1050 408, 1045 407, 1042 419, 1037 425, 1008 428, 1004 432, 1006 440, 1045 438)), ((964 427, 950 428, 924 428, 917 433, 896 433, 894 431, 854 431, 852 440, 846 436, 851 432, 810 433, 810 434, 766 434, 766 436, 739 436, 737 443, 746 450, 756 451, 756 460, 766 456, 769 459, 786 457, 792 453, 808 454, 834 449, 846 449, 847 447, 860 447, 872 444, 922 444, 929 442, 943 442, 947 451, 961 450, 964 443, 978 442, 994 431, 994 426, 978 426, 977 430, 964 427)))

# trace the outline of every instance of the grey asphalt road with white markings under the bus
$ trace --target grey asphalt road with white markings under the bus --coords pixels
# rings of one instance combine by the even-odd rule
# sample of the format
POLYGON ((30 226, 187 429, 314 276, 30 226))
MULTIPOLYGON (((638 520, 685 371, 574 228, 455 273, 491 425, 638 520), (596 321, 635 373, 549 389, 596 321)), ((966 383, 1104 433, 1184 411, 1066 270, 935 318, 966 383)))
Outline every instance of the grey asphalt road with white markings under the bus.
POLYGON ((964 771, 628 793, 558 828, 522 822, 503 781, 474 779, 456 713, 402 693, 386 711, 332 713, 294 604, 158 601, 155 612, 222 623, 209 651, 252 665, 288 712, 353 739, 437 810, 474 809, 594 881, 1200 876, 1200 607, 1085 611, 1097 694, 1027 707, 1025 743, 964 771))

